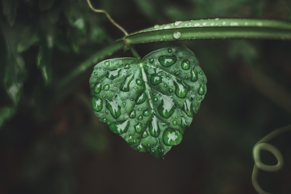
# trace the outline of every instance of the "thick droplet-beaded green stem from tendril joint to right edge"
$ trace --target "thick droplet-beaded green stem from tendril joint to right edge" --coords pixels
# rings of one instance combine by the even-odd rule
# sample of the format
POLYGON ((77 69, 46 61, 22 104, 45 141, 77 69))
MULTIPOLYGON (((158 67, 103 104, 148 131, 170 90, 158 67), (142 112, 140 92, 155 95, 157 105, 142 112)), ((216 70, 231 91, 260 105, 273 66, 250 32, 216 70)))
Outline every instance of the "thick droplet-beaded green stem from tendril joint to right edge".
POLYGON ((264 19, 203 19, 154 26, 125 37, 128 44, 197 39, 291 40, 291 23, 264 19))

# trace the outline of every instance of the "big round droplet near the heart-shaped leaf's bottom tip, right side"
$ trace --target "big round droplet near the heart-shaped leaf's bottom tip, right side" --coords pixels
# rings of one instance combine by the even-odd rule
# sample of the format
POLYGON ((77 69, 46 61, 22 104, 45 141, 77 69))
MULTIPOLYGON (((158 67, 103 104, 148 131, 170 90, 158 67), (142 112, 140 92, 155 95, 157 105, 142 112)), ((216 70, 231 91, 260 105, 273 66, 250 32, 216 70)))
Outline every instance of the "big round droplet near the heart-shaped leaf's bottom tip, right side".
POLYGON ((163 141, 166 145, 178 145, 182 141, 182 133, 178 129, 168 127, 164 130, 163 141))

